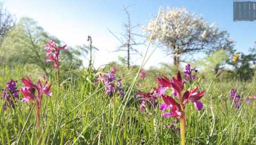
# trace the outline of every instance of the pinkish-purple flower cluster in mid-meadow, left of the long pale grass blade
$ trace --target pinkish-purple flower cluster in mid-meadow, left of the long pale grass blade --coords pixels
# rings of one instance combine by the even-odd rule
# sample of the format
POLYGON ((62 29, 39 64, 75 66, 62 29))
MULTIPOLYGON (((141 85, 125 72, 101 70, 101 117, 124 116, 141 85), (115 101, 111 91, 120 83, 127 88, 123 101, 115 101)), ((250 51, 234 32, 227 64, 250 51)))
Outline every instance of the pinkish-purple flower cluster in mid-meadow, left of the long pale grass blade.
POLYGON ((106 86, 106 95, 110 96, 113 93, 119 93, 121 97, 124 97, 122 82, 120 78, 116 78, 116 67, 113 67, 107 74, 99 74, 94 83, 98 83, 102 80, 106 86))

